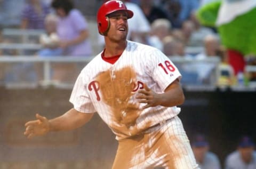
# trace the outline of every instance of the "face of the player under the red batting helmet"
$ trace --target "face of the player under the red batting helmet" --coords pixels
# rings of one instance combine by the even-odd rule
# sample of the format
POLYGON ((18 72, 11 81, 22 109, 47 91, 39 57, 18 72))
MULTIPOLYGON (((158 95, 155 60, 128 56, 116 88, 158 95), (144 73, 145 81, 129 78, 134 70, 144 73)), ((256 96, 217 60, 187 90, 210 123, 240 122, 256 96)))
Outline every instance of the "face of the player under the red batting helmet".
POLYGON ((108 15, 110 28, 108 30, 108 38, 112 41, 126 41, 128 33, 127 13, 125 11, 117 11, 108 15))

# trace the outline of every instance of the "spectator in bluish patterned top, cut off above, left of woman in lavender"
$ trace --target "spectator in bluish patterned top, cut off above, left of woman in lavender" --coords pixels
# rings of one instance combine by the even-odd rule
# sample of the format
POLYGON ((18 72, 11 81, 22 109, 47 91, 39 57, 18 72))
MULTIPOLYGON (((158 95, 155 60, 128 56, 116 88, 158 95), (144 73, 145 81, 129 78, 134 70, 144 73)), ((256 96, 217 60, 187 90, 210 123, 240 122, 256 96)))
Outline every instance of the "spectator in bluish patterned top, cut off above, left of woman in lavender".
POLYGON ((51 7, 40 0, 29 0, 21 13, 21 29, 44 29, 44 19, 51 7))

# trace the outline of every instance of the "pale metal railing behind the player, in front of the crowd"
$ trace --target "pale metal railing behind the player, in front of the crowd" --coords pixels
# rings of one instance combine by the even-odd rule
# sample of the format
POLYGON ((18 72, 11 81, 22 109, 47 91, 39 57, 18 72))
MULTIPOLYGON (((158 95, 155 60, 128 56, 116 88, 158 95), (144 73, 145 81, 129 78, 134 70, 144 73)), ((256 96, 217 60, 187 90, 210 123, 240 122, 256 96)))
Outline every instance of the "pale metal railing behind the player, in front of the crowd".
MULTIPOLYGON (((59 66, 65 67, 65 64, 75 63, 76 70, 67 70, 67 74, 71 73, 74 76, 74 79, 79 74, 79 71, 82 70, 82 68, 89 63, 93 57, 73 57, 73 56, 59 56, 59 57, 32 57, 32 56, 26 56, 26 55, 17 55, 17 56, 1 56, 0 57, 0 85, 9 87, 9 88, 26 88, 26 87, 49 87, 49 86, 55 86, 59 88, 71 88, 73 87, 75 81, 63 81, 60 83, 56 83, 54 79, 52 79, 52 71, 54 69, 54 66, 56 66, 57 63, 59 63, 59 66), (16 76, 19 76, 21 72, 23 71, 22 76, 29 76, 29 72, 33 73, 35 70, 35 65, 40 64, 42 67, 42 79, 39 81, 38 79, 33 81, 23 81, 22 77, 19 78, 18 81, 6 81, 5 75, 7 73, 11 74, 17 74, 16 76), (55 65, 54 65, 55 64, 55 65), (26 66, 23 66, 26 65, 26 66), (19 69, 13 69, 14 66, 18 66, 19 69), (28 67, 28 68, 27 68, 28 67), (12 71, 10 71, 12 69, 12 71), (22 70, 23 69, 23 70, 22 70), (2 78, 2 79, 1 79, 2 78)), ((197 84, 197 83, 183 83, 183 87, 186 88, 186 90, 189 91, 213 91, 216 90, 218 87, 217 80, 218 80, 218 65, 220 63, 220 59, 218 57, 209 57, 206 59, 201 60, 194 60, 189 58, 182 58, 182 57, 170 57, 172 62, 178 67, 180 65, 186 65, 187 68, 192 67, 193 64, 201 64, 201 63, 210 63, 211 65, 214 65, 214 68, 211 71, 211 74, 209 75, 209 82, 206 84, 197 84)), ((181 74, 183 72, 182 66, 178 67, 181 74)), ((256 66, 246 66, 245 68, 246 72, 256 72, 256 66)), ((190 74, 186 77, 185 74, 182 74, 182 78, 187 78, 188 76, 191 76, 190 74)), ((191 76, 190 78, 194 78, 194 76, 191 76)), ((181 79, 182 82, 182 79, 181 79)), ((256 85, 254 82, 252 82, 249 86, 244 86, 241 88, 237 86, 232 87, 233 90, 236 91, 256 91, 256 85)))

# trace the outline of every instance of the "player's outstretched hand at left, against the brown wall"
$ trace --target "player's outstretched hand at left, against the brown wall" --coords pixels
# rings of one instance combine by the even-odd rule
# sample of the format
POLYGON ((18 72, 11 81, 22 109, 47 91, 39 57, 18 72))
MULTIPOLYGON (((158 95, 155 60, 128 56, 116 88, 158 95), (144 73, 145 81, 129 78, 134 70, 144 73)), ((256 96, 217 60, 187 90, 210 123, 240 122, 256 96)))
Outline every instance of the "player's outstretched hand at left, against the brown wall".
POLYGON ((26 135, 28 139, 34 136, 45 135, 50 131, 50 123, 46 117, 36 114, 36 118, 37 120, 32 120, 25 124, 26 131, 24 135, 26 135))

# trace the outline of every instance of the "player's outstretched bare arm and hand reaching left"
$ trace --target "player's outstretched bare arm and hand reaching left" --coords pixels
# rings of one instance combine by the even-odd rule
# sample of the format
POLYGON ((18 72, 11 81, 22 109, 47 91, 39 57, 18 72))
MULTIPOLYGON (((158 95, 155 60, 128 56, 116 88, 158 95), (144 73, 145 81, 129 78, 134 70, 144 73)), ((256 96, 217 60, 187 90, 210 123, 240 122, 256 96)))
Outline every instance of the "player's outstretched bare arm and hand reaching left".
POLYGON ((37 120, 32 120, 25 124, 26 131, 24 134, 30 139, 34 136, 45 135, 50 131, 73 130, 89 122, 92 116, 93 113, 79 112, 74 108, 50 120, 36 114, 37 120))

